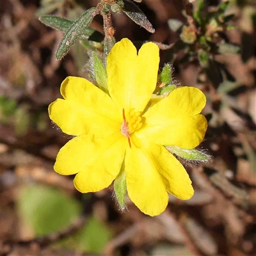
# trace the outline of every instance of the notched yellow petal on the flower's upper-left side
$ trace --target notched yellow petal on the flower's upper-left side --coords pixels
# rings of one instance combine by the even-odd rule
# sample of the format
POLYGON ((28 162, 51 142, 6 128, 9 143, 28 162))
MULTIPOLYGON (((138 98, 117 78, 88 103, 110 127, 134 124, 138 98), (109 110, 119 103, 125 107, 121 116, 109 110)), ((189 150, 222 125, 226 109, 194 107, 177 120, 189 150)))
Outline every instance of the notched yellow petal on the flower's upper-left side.
POLYGON ((70 135, 111 134, 120 130, 122 114, 113 100, 88 80, 67 77, 61 95, 49 106, 49 116, 63 132, 70 135))

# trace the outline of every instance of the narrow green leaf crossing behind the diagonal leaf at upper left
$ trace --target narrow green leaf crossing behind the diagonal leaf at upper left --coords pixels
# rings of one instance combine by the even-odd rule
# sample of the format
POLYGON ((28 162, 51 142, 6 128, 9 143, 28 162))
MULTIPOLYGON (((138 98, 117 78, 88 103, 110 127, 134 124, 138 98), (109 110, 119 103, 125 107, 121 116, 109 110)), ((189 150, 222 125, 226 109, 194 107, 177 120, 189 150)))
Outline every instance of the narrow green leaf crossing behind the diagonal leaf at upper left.
MULTIPOLYGON (((54 15, 43 15, 39 17, 39 20, 46 26, 49 26, 53 29, 58 29, 63 32, 67 32, 70 26, 73 24, 71 20, 63 19, 54 15)), ((102 35, 99 31, 88 27, 84 29, 84 32, 80 38, 95 42, 102 42, 102 40, 104 40, 104 35, 102 35)))

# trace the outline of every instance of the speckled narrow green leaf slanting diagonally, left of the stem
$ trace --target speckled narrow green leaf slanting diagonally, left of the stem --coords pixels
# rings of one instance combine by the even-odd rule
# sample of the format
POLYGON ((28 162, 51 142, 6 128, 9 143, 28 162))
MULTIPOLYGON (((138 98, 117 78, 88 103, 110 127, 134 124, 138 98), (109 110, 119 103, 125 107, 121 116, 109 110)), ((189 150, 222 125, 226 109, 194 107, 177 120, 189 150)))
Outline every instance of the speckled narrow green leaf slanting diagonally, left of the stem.
POLYGON ((63 36, 57 49, 57 60, 61 60, 61 58, 67 54, 72 45, 75 44, 76 40, 83 35, 84 31, 86 28, 88 28, 96 14, 97 8, 90 8, 73 22, 72 26, 70 26, 68 31, 63 36))

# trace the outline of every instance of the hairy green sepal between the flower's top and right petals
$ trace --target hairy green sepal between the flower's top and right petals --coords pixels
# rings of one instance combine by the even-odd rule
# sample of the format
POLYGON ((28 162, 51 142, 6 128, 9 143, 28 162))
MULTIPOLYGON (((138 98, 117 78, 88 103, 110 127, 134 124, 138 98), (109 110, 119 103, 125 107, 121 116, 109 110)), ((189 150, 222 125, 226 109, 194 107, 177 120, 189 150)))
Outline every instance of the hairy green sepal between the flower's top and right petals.
POLYGON ((162 72, 158 76, 158 83, 164 84, 162 88, 157 89, 158 95, 168 95, 172 92, 176 85, 172 84, 172 65, 167 63, 164 65, 162 72))

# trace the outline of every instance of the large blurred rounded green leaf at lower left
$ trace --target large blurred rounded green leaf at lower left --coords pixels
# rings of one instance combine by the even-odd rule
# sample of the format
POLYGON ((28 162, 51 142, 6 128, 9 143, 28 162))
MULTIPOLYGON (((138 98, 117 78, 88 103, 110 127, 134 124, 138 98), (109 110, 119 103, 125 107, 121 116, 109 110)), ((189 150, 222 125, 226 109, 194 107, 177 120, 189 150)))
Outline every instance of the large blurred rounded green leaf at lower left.
POLYGON ((76 200, 42 185, 22 189, 18 209, 20 217, 36 236, 61 230, 81 214, 81 205, 76 200))

